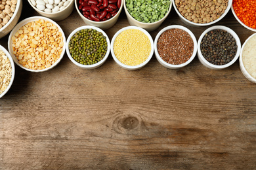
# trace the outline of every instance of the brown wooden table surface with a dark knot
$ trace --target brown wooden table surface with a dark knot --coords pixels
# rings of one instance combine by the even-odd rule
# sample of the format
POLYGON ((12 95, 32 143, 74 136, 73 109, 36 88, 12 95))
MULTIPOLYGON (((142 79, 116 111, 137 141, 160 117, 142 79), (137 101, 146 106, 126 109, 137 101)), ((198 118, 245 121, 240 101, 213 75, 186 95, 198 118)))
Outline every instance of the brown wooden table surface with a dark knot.
MULTIPOLYGON (((23 3, 20 20, 39 15, 23 3)), ((75 9, 57 23, 66 37, 85 25, 75 9)), ((173 24, 185 25, 174 9, 152 38, 173 24)), ((106 30, 110 40, 128 25, 123 10, 106 30)), ((215 25, 234 29, 242 44, 253 34, 231 10, 215 25)), ((207 29, 185 26, 197 40, 207 29)), ((16 65, 0 99, 0 169, 256 169, 256 85, 238 61, 215 71, 195 58, 172 70, 153 56, 127 71, 110 55, 84 70, 65 54, 45 73, 16 65)))

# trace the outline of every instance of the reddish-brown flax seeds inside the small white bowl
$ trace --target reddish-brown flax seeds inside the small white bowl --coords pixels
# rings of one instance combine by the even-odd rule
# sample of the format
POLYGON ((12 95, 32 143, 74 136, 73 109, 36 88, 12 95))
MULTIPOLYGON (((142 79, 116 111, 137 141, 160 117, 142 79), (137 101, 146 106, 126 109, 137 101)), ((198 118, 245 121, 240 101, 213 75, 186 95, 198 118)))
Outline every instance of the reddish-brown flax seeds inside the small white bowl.
POLYGON ((163 61, 179 65, 191 58, 194 50, 192 37, 182 29, 168 29, 158 39, 158 54, 163 61))

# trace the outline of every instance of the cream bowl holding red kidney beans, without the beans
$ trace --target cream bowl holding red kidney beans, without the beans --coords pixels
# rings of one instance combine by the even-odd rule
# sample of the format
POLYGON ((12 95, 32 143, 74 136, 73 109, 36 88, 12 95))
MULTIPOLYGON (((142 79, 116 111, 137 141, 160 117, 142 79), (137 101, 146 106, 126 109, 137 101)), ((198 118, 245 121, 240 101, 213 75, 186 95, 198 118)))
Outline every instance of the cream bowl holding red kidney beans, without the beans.
POLYGON ((78 6, 79 6, 79 4, 77 4, 78 0, 74 0, 74 1, 75 1, 75 9, 77 10, 79 16, 82 18, 83 22, 85 22, 85 24, 87 24, 87 25, 99 27, 100 29, 103 29, 103 30, 109 29, 110 27, 112 27, 113 25, 116 24, 116 22, 119 18, 119 15, 121 14, 121 10, 123 9, 123 1, 121 1, 121 7, 115 16, 113 16, 112 18, 110 18, 109 20, 106 20, 106 21, 95 22, 93 20, 89 20, 89 19, 85 18, 85 16, 83 16, 83 14, 81 14, 81 12, 78 9, 78 6))

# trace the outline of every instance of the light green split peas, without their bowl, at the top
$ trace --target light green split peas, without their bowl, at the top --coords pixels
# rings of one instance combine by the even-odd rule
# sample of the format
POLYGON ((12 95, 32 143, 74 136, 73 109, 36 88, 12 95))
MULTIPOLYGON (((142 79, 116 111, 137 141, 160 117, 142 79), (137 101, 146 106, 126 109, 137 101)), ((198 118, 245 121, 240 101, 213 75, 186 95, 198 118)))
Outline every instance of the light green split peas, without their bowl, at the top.
POLYGON ((169 0, 125 0, 127 10, 135 20, 144 23, 163 18, 171 5, 169 0))

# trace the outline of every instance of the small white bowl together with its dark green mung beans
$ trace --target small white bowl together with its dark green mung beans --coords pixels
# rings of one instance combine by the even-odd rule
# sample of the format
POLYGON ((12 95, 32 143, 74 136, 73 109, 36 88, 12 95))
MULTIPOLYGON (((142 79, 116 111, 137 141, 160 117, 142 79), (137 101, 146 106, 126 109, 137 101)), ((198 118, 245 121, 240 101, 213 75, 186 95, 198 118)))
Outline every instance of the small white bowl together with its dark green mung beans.
POLYGON ((84 25, 70 33, 66 52, 75 65, 83 69, 96 69, 110 54, 110 39, 102 29, 84 25))

